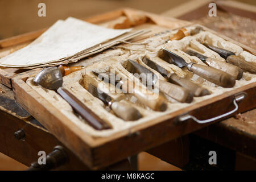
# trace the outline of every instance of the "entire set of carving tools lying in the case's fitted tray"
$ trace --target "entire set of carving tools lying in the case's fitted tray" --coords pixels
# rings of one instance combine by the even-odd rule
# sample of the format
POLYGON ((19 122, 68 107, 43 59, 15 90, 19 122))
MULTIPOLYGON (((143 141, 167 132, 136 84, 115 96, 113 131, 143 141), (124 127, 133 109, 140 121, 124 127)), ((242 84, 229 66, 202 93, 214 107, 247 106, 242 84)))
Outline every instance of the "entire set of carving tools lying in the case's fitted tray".
MULTIPOLYGON (((185 36, 198 34, 200 31, 200 27, 196 27, 195 30, 192 30, 190 33, 185 28, 181 28, 170 40, 180 40, 185 36)), ((203 43, 203 45, 217 52, 226 61, 204 56, 191 48, 187 48, 183 51, 190 56, 198 57, 204 64, 187 63, 183 57, 167 48, 160 49, 158 57, 168 64, 174 64, 179 68, 186 68, 189 72, 224 88, 232 88, 236 84, 236 80, 242 78, 243 72, 256 73, 255 65, 236 56, 233 52, 207 43, 203 43)), ((101 81, 106 82, 106 84, 112 84, 115 87, 118 85, 122 93, 128 93, 127 91, 129 91, 129 93, 137 97, 143 105, 155 111, 165 111, 167 109, 167 99, 165 95, 177 102, 191 103, 193 97, 201 97, 210 94, 208 89, 195 84, 187 78, 179 77, 176 73, 167 71, 167 69, 163 68, 154 60, 151 60, 147 55, 142 57, 140 61, 128 59, 127 64, 122 66, 129 73, 132 73, 133 76, 139 78, 140 82, 142 82, 145 87, 142 88, 142 86, 135 84, 134 81, 130 81, 129 79, 118 78, 118 75, 115 73, 98 73, 96 71, 92 71, 92 73, 101 81), (158 72, 164 79, 159 78, 152 70, 158 72), (148 76, 150 76, 150 78, 148 76), (146 82, 142 80, 146 80, 146 82), (148 99, 155 94, 148 88, 157 88, 160 93, 164 94, 159 94, 155 99, 148 99)), ((59 68, 49 67, 43 69, 43 71, 36 75, 34 82, 46 89, 55 90, 72 106, 75 113, 79 114, 94 129, 111 129, 108 123, 98 117, 97 114, 62 86, 63 76, 67 76, 83 68, 82 66, 68 67, 67 65, 60 65, 59 68)), ((93 85, 93 83, 89 83, 87 90, 92 96, 100 99, 117 117, 124 121, 136 121, 143 117, 134 106, 125 102, 115 101, 108 93, 103 92, 97 88, 97 85, 93 85)))

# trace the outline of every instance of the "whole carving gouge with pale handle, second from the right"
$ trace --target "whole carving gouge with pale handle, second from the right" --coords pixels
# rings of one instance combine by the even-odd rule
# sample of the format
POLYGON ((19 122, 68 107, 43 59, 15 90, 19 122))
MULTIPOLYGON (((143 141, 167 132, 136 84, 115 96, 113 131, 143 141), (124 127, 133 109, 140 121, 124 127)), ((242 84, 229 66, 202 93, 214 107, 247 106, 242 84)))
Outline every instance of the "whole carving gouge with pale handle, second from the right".
POLYGON ((191 49, 187 49, 185 52, 188 55, 198 57, 201 61, 203 61, 205 64, 209 65, 210 67, 220 69, 221 71, 229 73, 229 75, 233 76, 237 80, 240 80, 243 76, 243 70, 233 64, 229 64, 224 61, 206 57, 191 49))

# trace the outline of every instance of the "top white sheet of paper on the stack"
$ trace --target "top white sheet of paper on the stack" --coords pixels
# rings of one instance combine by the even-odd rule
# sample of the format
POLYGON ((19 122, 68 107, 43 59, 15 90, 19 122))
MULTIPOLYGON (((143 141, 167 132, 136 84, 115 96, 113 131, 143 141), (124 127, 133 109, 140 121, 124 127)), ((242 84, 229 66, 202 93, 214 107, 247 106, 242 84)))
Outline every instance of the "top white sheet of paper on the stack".
POLYGON ((104 28, 69 17, 64 21, 58 20, 27 47, 0 59, 0 65, 28 67, 56 62, 130 30, 104 28))

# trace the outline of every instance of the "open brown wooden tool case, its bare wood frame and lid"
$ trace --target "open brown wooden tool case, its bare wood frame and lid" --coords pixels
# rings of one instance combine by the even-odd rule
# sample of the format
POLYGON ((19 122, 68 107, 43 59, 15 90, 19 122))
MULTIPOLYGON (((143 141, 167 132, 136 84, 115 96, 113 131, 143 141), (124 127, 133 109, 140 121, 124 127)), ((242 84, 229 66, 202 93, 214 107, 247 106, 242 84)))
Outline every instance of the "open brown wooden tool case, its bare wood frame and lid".
MULTIPOLYGON (((159 15, 131 9, 118 10, 87 20, 106 27, 141 28, 145 26, 147 28, 151 27, 152 30, 159 32, 178 29, 191 24, 183 20, 164 18, 159 15)), ((206 28, 205 30, 208 29, 206 28)), ((0 53, 8 54, 11 49, 18 49, 20 44, 31 42, 42 34, 43 31, 2 40, 0 46, 5 48, 2 48, 0 53)), ((237 44, 224 36, 220 37, 237 44)), ((241 44, 238 45, 241 46, 241 44)), ((255 55, 253 49, 249 50, 245 46, 242 46, 242 48, 255 55)), ((199 124, 192 119, 180 121, 179 118, 184 114, 190 114, 199 119, 216 117, 217 115, 233 110, 233 100, 236 98, 241 98, 241 100, 237 100, 238 112, 250 110, 256 106, 256 82, 251 82, 250 84, 230 89, 214 97, 206 98, 195 104, 189 104, 182 109, 162 114, 157 118, 148 119, 138 125, 134 124, 126 130, 117 130, 113 134, 105 135, 105 137, 103 135, 97 137, 91 135, 90 132, 86 133, 82 130, 67 115, 61 113, 57 106, 45 99, 27 83, 27 80, 34 77, 39 71, 40 69, 36 69, 19 73, 20 70, 1 68, 1 82, 7 86, 12 86, 15 98, 19 104, 28 110, 31 115, 38 119, 42 125, 92 169, 108 166, 127 156, 148 150, 168 140, 192 133, 213 123, 199 124)))

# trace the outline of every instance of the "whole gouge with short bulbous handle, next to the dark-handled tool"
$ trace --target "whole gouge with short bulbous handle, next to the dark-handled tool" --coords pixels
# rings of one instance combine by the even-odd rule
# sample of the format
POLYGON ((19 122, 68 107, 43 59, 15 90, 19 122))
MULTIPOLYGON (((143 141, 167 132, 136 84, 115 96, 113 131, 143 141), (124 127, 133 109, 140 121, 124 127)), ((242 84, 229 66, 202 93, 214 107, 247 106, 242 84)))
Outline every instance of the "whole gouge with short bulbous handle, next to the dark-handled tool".
POLYGON ((141 113, 139 113, 133 106, 114 101, 108 94, 92 84, 89 84, 88 91, 94 97, 99 98, 105 105, 109 106, 119 118, 122 118, 125 121, 134 121, 142 117, 141 113))

